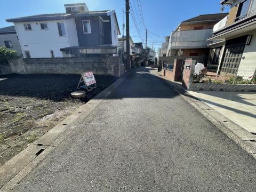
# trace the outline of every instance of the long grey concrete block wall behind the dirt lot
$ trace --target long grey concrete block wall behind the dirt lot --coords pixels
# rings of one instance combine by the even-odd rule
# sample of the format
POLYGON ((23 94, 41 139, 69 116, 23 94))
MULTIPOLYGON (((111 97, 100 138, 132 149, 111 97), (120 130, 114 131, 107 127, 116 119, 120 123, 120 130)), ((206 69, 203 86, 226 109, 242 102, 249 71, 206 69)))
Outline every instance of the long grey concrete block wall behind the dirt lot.
POLYGON ((118 57, 15 59, 9 60, 9 67, 10 73, 17 74, 81 74, 93 71, 96 75, 118 77, 121 70, 118 57))

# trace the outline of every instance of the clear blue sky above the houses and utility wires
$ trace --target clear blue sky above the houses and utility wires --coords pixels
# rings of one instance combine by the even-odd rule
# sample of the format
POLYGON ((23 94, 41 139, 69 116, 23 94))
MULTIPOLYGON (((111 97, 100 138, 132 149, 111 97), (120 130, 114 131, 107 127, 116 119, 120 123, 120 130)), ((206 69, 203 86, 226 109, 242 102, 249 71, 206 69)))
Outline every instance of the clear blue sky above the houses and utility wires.
MULTIPOLYGON (((142 39, 145 41, 145 27, 141 22, 137 0, 130 0, 132 10, 138 23, 142 39)), ((148 46, 156 43, 156 50, 164 38, 183 20, 199 14, 220 13, 220 0, 139 0, 145 25, 151 32, 148 35, 148 46), (153 35, 154 33, 155 35, 153 35), (156 36, 157 35, 157 36, 156 36)), ((125 0, 1 0, 0 28, 10 26, 5 19, 25 17, 43 13, 65 12, 63 4, 86 3, 89 10, 111 10, 117 12, 118 23, 122 32, 125 0)), ((227 8, 225 10, 228 11, 227 8)), ((124 18, 125 19, 125 18, 124 18)), ((141 42, 138 30, 130 17, 130 33, 134 42, 141 42)))

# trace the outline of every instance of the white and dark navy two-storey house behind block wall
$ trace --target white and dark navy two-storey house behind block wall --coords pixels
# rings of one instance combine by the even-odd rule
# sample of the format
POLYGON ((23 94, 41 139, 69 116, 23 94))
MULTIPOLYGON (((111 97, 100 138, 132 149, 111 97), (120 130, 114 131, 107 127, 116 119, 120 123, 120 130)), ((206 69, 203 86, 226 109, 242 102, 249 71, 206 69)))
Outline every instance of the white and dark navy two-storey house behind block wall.
POLYGON ((6 19, 13 22, 26 58, 116 54, 120 34, 115 10, 89 11, 66 4, 66 13, 6 19))

